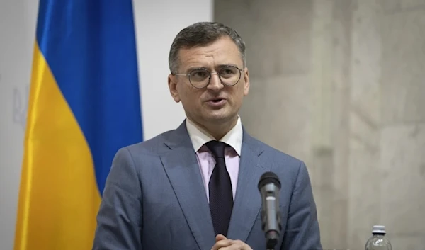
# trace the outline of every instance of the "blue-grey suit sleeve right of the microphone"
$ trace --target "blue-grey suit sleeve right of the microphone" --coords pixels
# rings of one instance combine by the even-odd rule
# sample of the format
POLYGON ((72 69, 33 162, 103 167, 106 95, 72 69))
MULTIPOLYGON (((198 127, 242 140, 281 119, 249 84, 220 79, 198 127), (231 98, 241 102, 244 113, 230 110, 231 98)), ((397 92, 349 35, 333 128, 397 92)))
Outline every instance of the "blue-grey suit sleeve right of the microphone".
POLYGON ((304 162, 298 170, 281 250, 322 249, 312 186, 304 162))

